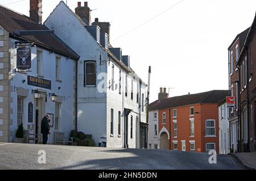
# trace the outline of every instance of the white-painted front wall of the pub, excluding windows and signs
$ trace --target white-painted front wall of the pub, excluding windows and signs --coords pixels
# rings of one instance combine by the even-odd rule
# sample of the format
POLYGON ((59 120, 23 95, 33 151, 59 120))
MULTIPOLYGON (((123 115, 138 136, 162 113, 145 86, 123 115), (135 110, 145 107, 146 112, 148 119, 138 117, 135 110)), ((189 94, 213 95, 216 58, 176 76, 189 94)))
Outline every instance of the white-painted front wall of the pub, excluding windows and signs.
MULTIPOLYGON (((11 66, 12 70, 16 68, 16 48, 14 48, 14 39, 11 39, 11 44, 13 48, 10 48, 11 52, 11 66)), ((55 103, 51 101, 51 98, 49 97, 49 93, 55 93, 58 95, 58 99, 60 99, 61 103, 61 110, 60 110, 60 129, 58 131, 64 132, 65 137, 69 137, 69 134, 72 129, 74 129, 74 120, 75 117, 73 115, 73 112, 75 111, 74 103, 75 98, 73 95, 75 94, 75 89, 73 89, 73 86, 75 85, 75 60, 67 59, 63 56, 57 55, 60 57, 60 81, 56 81, 56 73, 55 73, 55 65, 56 65, 56 54, 55 53, 49 53, 48 50, 44 50, 38 47, 32 47, 31 48, 31 71, 27 73, 14 73, 14 78, 11 81, 11 86, 15 86, 15 89, 13 92, 11 92, 11 97, 13 98, 13 103, 11 104, 11 108, 13 108, 13 115, 11 117, 13 118, 13 125, 11 126, 11 130, 13 131, 13 137, 10 139, 13 140, 16 133, 17 125, 17 91, 22 89, 28 90, 27 97, 24 97, 24 113, 23 113, 23 127, 24 129, 27 129, 27 125, 31 125, 30 133, 35 133, 35 99, 34 95, 32 94, 32 90, 40 90, 45 91, 47 96, 47 102, 45 103, 45 107, 43 108, 42 115, 45 115, 45 113, 53 113, 55 115, 55 103), (47 79, 51 81, 51 90, 43 89, 41 87, 35 87, 27 85, 27 75, 31 75, 33 77, 37 77, 36 74, 36 50, 40 49, 43 52, 43 60, 42 60, 42 75, 43 79, 47 79), (26 80, 26 82, 22 83, 22 80, 26 80), (61 87, 59 90, 58 87, 61 87), (67 100, 64 100, 67 98, 67 100), (28 123, 28 103, 33 103, 34 108, 34 115, 33 120, 34 123, 28 123), (45 110, 45 112, 43 112, 45 110)), ((43 101, 43 100, 42 100, 43 101)), ((44 100, 45 101, 45 100, 44 100)), ((39 118, 39 124, 41 123, 42 117, 39 118)), ((39 125, 40 127, 40 125, 39 125)), ((50 139, 48 140, 48 143, 53 143, 53 136, 55 132, 55 125, 53 124, 53 127, 51 127, 51 135, 50 139)), ((39 129, 40 133, 40 129, 39 129)))

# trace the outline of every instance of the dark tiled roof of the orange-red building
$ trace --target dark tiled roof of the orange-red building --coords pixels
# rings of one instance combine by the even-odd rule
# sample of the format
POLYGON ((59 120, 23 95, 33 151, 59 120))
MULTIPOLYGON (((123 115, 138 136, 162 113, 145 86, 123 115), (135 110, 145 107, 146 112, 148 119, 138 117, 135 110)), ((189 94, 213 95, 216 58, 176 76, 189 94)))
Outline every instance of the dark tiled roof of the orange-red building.
POLYGON ((149 105, 149 110, 162 110, 172 107, 188 106, 191 104, 218 104, 228 95, 228 90, 212 90, 208 92, 201 92, 198 94, 175 96, 172 98, 164 99, 160 102, 159 100, 152 102, 149 105))

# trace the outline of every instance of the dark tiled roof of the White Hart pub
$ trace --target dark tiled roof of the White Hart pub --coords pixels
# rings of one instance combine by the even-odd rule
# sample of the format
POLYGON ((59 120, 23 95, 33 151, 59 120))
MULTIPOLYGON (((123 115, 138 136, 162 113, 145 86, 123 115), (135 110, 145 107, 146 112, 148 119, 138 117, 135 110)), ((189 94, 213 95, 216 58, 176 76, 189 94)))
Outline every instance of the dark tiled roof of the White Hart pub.
POLYGON ((49 30, 46 26, 33 22, 28 16, 0 5, 0 26, 17 39, 30 41, 38 47, 52 50, 57 54, 79 60, 79 55, 68 47, 54 33, 53 35, 15 36, 14 31, 49 30))

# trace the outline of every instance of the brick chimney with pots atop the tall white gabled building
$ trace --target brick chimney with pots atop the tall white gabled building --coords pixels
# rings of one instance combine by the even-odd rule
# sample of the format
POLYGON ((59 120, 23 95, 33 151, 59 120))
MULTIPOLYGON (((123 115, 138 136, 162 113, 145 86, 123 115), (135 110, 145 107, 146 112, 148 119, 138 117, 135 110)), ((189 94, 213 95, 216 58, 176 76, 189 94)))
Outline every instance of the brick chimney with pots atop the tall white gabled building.
POLYGON ((88 7, 88 2, 84 2, 83 7, 81 6, 81 2, 77 2, 75 12, 77 16, 79 16, 88 26, 90 26, 92 21, 90 20, 90 8, 88 7))

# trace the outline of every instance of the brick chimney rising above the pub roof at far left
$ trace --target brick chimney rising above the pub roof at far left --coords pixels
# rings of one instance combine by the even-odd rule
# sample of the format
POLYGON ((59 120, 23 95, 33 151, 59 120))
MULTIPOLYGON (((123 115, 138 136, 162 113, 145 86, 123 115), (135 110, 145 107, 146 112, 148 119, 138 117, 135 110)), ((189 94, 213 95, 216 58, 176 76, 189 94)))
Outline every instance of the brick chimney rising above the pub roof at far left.
POLYGON ((30 19, 42 24, 42 0, 30 0, 30 19))

